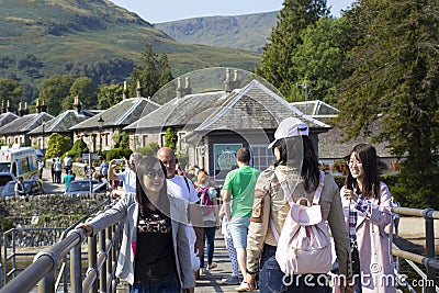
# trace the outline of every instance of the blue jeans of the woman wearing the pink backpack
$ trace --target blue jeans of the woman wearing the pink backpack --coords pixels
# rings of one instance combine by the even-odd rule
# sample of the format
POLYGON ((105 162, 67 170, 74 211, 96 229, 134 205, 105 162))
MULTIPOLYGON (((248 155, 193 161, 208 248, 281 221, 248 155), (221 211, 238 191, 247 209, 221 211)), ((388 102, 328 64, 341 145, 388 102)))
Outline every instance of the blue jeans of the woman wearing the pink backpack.
POLYGON ((285 275, 275 260, 275 247, 264 246, 259 272, 260 293, 330 293, 329 280, 322 273, 285 275))

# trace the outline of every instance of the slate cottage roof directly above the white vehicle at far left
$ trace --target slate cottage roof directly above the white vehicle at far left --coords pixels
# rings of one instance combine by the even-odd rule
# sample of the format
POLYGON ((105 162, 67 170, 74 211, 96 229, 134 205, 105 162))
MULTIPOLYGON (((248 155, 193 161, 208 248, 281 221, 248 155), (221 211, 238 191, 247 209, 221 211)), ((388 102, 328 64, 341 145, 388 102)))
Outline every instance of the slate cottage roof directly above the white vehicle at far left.
POLYGON ((9 135, 9 134, 22 134, 29 133, 31 129, 42 125, 44 121, 49 121, 54 116, 47 114, 46 112, 42 113, 34 113, 27 114, 21 117, 18 117, 10 123, 0 127, 1 135, 9 135))

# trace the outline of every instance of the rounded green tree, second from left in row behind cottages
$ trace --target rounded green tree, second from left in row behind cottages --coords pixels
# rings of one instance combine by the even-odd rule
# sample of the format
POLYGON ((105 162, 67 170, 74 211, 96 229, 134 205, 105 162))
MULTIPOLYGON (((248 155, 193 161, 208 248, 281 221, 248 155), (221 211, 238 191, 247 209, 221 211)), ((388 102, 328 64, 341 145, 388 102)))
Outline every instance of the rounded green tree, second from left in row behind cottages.
POLYGON ((49 114, 56 116, 61 112, 63 100, 68 99, 71 84, 71 76, 53 76, 43 80, 38 98, 45 100, 49 114))

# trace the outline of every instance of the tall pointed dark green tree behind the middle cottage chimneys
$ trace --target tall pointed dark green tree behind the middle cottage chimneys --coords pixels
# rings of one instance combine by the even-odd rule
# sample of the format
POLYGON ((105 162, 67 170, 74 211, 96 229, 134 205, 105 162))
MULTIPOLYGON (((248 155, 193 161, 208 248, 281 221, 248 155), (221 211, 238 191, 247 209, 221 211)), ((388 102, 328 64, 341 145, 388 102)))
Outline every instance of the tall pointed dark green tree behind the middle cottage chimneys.
POLYGON ((140 64, 133 70, 133 83, 130 87, 131 97, 136 97, 136 81, 139 80, 142 97, 153 97, 160 87, 172 80, 167 55, 159 56, 150 45, 142 52, 140 64))

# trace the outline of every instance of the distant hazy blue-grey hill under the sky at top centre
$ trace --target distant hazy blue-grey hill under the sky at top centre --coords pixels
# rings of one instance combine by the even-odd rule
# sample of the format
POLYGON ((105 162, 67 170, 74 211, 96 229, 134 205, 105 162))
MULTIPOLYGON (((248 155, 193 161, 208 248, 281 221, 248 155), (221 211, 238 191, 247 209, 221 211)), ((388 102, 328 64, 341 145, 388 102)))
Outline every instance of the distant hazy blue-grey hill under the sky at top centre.
POLYGON ((277 23, 278 11, 237 16, 194 18, 156 23, 176 41, 262 53, 277 23))

